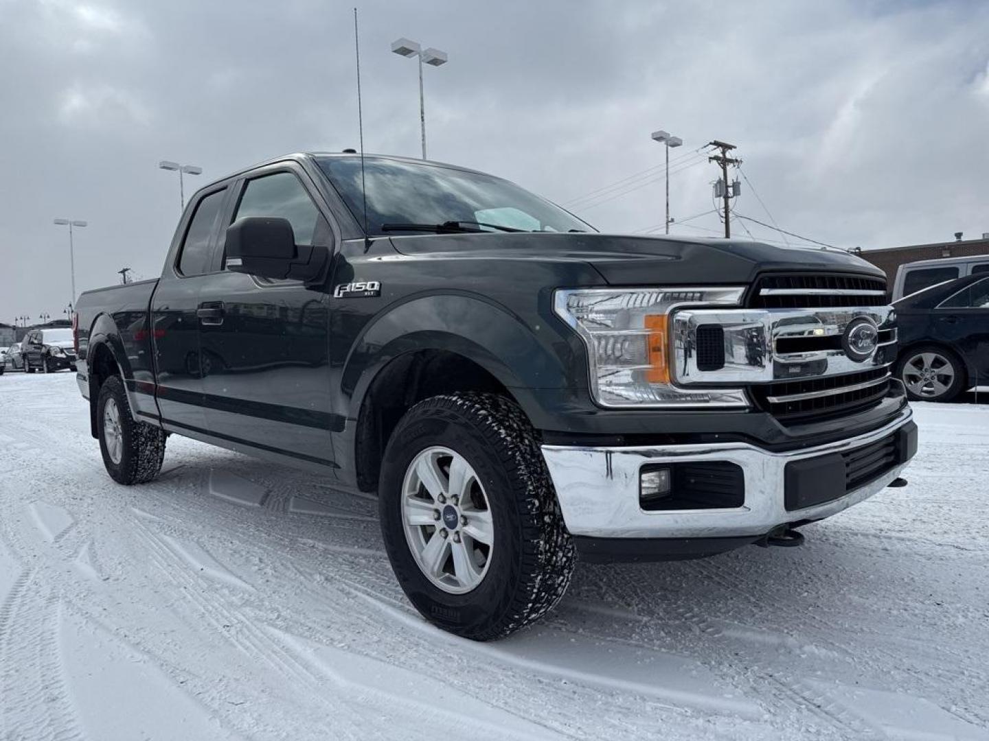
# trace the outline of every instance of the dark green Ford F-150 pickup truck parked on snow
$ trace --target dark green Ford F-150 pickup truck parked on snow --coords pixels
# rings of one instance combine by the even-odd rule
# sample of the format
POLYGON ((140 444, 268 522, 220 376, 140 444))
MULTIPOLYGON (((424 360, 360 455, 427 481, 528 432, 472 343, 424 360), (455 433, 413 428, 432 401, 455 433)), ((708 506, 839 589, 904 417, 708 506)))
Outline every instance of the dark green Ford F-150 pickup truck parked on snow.
POLYGON ((408 599, 483 640, 578 554, 795 544, 905 483, 885 296, 841 251, 601 234, 480 172, 300 154, 199 191, 157 281, 80 296, 78 381, 120 483, 183 435, 377 492, 408 599))

